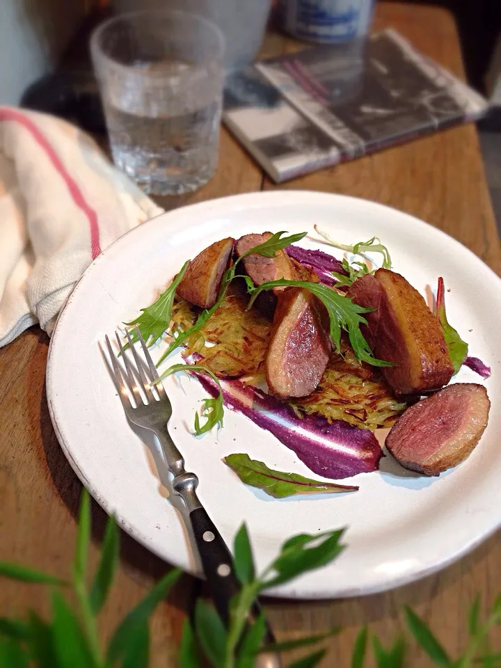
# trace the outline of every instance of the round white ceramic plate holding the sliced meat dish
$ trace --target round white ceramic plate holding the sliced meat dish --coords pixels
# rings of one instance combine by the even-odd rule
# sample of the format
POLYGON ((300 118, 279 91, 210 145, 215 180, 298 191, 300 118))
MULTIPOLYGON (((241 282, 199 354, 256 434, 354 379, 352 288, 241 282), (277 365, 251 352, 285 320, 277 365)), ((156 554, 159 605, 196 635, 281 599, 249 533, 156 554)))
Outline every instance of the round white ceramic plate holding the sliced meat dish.
MULTIPOLYGON (((200 499, 228 544, 246 520, 263 568, 293 534, 347 527, 347 549, 337 561, 275 593, 356 596, 436 571, 500 525, 501 281, 454 239, 395 209, 324 193, 250 193, 163 214, 107 248, 74 289, 51 340, 47 397, 61 447, 97 502, 152 552, 198 572, 179 503, 166 499, 159 482, 158 451, 129 427, 100 342, 148 305, 184 260, 214 241, 265 230, 312 232, 314 223, 344 243, 381 237, 395 271, 422 294, 443 276, 450 321, 470 354, 493 372, 482 381, 463 368, 456 379, 484 382, 492 401, 488 427, 472 455, 438 478, 407 472, 388 456, 380 471, 343 481, 356 480, 356 493, 274 500, 244 486, 221 458, 248 452, 273 468, 316 476, 271 434, 232 411, 225 411, 218 434, 193 438, 189 429, 205 392, 185 377, 168 379, 166 390, 174 408, 171 434, 186 468, 200 477, 200 499)), ((301 244, 329 250, 306 239, 301 244)))

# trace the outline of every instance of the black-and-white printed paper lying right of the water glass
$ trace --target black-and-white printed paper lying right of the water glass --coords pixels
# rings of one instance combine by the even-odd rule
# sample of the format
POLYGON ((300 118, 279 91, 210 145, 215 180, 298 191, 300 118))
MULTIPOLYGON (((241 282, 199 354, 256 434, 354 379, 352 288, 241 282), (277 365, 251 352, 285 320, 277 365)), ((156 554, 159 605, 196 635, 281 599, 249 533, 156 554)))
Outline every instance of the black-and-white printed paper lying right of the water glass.
POLYGON ((260 61, 223 120, 276 182, 480 118, 488 104, 392 29, 260 61))

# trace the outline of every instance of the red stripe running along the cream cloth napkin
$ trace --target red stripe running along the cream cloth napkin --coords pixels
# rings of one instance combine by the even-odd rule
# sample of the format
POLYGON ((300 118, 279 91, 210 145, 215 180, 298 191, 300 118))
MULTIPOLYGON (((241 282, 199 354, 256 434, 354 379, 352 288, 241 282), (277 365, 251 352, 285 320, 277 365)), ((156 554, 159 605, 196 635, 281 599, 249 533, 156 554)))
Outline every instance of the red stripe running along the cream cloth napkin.
POLYGON ((87 216, 90 229, 90 253, 92 255, 92 259, 94 260, 95 257, 101 253, 97 214, 94 209, 86 202, 86 199, 84 198, 77 182, 75 182, 70 173, 67 172, 54 148, 49 144, 45 136, 43 136, 42 132, 40 132, 40 129, 32 120, 27 118, 27 116, 24 116, 22 113, 19 113, 19 111, 16 111, 15 109, 5 108, 0 109, 0 120, 14 120, 15 122, 18 122, 31 133, 33 139, 45 151, 47 157, 54 165, 54 168, 61 175, 63 181, 65 182, 74 203, 87 216))

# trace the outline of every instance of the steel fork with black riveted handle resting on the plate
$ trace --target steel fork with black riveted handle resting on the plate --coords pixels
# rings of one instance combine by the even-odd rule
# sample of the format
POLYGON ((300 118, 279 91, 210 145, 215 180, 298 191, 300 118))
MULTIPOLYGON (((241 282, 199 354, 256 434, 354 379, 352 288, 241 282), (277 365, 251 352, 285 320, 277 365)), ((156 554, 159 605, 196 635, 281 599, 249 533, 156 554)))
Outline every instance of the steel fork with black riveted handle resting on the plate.
MULTIPOLYGON (((216 525, 212 522, 207 511, 202 507, 196 494, 198 477, 184 468, 182 454, 168 432, 168 421, 172 415, 172 405, 168 398, 164 385, 159 380, 159 374, 146 347, 141 332, 136 327, 138 340, 141 342, 144 359, 141 359, 132 337, 126 330, 125 335, 129 344, 134 364, 126 353, 118 332, 115 333, 120 350, 122 365, 113 351, 110 340, 106 335, 106 346, 113 367, 113 374, 119 390, 120 400, 125 414, 130 422, 143 429, 149 429, 160 441, 162 452, 170 472, 173 474, 173 488, 181 496, 195 537, 196 546, 200 554, 202 568, 207 578, 207 584, 211 591, 214 604, 218 613, 224 621, 228 621, 229 604, 231 598, 240 589, 237 576, 234 573, 233 559, 218 532, 216 525), (131 401, 133 399, 133 402, 131 401)), ((260 613, 257 603, 253 608, 252 617, 260 613)), ((268 626, 267 642, 273 642, 273 634, 268 626)), ((258 661, 260 667, 279 668, 280 659, 276 654, 260 655, 258 661)))

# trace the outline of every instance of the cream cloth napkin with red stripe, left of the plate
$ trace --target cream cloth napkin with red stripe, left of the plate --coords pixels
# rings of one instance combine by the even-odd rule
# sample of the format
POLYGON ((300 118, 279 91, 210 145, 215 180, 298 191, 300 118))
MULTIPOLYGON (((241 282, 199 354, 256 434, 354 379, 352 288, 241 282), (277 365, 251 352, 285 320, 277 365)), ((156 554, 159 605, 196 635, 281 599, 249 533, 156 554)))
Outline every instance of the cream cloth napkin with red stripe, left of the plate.
POLYGON ((90 262, 162 211, 77 127, 0 106, 0 347, 50 334, 90 262))

